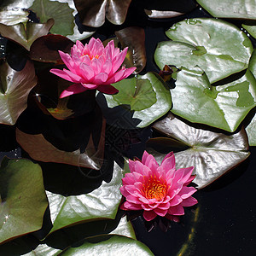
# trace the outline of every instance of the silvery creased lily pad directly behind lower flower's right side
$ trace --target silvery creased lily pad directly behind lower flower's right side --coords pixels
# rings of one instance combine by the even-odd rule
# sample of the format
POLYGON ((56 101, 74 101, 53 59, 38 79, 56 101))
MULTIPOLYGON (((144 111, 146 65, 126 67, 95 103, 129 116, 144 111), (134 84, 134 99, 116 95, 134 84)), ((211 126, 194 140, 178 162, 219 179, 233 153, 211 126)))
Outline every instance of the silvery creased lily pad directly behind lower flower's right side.
MULTIPOLYGON (((199 189, 206 187, 218 177, 238 166, 249 156, 247 134, 242 128, 234 134, 225 135, 206 129, 196 128, 193 124, 184 123, 169 113, 165 119, 154 123, 153 128, 172 138, 154 138, 148 141, 148 147, 170 152, 176 147, 173 139, 183 143, 183 151, 175 153, 176 167, 195 166, 194 183, 199 189), (160 148, 160 149, 159 149, 160 148)), ((165 154, 156 153, 158 161, 165 154)), ((154 153, 153 153, 154 154, 154 153)))

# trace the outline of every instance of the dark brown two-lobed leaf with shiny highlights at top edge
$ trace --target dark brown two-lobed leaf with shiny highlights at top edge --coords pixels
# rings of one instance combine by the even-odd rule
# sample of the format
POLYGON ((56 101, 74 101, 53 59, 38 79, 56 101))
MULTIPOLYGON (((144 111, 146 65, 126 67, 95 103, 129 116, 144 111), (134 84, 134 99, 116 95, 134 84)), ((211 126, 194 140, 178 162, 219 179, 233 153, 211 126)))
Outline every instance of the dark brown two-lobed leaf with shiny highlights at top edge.
POLYGON ((104 24, 105 15, 111 23, 123 24, 131 0, 74 0, 74 3, 83 24, 98 27, 104 24))

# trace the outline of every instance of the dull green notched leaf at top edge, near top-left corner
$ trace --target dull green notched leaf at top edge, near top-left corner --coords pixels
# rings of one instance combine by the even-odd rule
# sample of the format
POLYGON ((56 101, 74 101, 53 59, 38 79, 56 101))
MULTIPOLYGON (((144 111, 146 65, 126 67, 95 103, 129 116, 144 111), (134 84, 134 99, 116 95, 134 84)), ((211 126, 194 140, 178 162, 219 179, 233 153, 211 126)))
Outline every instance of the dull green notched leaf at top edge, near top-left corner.
POLYGON ((49 19, 55 20, 55 26, 51 28, 50 32, 62 36, 73 34, 73 9, 68 6, 68 3, 35 0, 29 9, 36 13, 42 23, 49 19))

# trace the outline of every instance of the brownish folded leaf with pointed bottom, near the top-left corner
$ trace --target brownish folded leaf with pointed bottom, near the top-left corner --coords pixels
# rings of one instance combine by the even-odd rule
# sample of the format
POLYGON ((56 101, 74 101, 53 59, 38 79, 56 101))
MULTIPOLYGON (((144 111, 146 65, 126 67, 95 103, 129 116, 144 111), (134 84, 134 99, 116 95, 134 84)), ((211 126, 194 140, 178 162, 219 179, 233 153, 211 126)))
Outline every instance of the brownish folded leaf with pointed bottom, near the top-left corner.
POLYGON ((0 33, 3 37, 9 38, 29 50, 32 43, 37 38, 46 35, 53 25, 54 20, 52 19, 43 24, 26 22, 26 28, 23 23, 14 26, 0 24, 0 33))

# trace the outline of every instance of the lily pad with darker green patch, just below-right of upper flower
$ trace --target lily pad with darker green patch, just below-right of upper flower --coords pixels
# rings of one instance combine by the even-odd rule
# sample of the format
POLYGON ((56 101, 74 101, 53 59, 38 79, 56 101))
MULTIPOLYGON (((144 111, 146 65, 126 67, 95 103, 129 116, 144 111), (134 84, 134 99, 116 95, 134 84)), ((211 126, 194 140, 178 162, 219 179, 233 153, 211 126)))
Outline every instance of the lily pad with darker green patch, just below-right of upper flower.
POLYGON ((124 118, 123 112, 114 115, 115 108, 119 106, 125 113, 129 112, 132 115, 132 119, 129 122, 126 120, 124 123, 125 128, 143 128, 159 119, 172 107, 169 90, 166 89, 165 82, 156 73, 137 75, 137 78, 125 79, 113 86, 119 90, 119 93, 114 96, 104 95, 108 106, 104 107, 103 99, 99 97, 99 94, 96 97, 107 122, 110 119, 124 118))

